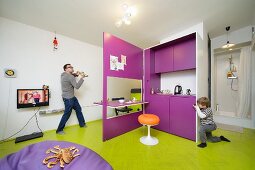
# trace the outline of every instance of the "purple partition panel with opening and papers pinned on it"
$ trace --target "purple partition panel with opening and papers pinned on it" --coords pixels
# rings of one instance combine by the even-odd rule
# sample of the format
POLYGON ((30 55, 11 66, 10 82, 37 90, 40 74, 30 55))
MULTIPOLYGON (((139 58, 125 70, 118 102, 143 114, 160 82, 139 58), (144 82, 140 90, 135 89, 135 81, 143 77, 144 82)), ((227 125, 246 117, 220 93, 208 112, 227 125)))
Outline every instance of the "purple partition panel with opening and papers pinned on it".
POLYGON ((108 140, 140 126, 137 118, 142 112, 107 119, 107 77, 143 79, 143 50, 111 34, 103 34, 103 140, 108 140), (110 55, 121 60, 125 55, 124 70, 110 70, 110 55))

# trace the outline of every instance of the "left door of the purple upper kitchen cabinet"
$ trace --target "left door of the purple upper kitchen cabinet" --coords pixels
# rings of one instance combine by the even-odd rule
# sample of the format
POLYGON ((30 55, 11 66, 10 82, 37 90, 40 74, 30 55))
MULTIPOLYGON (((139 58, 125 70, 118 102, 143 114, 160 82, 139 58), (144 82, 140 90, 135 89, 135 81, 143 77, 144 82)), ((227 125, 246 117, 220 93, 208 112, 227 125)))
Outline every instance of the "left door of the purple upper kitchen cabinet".
POLYGON ((173 48, 165 47, 155 51, 155 73, 173 71, 173 48))

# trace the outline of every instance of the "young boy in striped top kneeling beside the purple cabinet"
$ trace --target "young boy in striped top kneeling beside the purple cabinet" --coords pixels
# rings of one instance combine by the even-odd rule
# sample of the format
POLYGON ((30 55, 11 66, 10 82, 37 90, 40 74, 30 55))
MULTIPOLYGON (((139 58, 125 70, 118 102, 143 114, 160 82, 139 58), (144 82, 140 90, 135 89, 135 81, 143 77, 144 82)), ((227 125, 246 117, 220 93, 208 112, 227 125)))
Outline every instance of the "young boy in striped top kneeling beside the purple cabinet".
POLYGON ((197 111, 198 116, 200 117, 200 140, 201 144, 197 145, 200 148, 204 148, 207 146, 206 140, 210 142, 220 142, 226 141, 230 142, 224 136, 212 136, 212 131, 217 129, 215 122, 213 121, 213 113, 210 108, 210 101, 206 97, 201 97, 197 100, 197 105, 194 105, 194 108, 197 111))

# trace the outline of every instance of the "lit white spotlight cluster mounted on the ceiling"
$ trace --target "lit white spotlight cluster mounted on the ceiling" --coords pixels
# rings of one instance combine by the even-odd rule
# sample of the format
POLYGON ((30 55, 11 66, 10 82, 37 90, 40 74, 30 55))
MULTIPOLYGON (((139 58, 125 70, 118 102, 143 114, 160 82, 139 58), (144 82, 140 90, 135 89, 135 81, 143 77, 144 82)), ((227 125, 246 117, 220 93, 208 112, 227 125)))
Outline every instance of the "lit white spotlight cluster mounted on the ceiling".
POLYGON ((136 8, 129 7, 128 4, 122 5, 123 16, 115 22, 116 27, 120 27, 122 24, 130 25, 130 18, 136 15, 136 8))

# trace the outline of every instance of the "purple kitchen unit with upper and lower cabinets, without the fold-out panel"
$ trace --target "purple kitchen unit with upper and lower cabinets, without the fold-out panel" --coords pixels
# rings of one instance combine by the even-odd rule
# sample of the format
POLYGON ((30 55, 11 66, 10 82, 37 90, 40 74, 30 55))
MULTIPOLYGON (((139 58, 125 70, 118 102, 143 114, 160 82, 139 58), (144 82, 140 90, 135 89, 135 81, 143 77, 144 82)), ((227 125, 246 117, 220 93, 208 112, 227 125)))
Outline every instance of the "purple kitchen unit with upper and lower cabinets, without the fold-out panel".
POLYGON ((196 140, 195 96, 157 94, 161 73, 196 69, 196 33, 145 50, 145 113, 159 116, 152 128, 196 140), (152 89, 154 94, 151 93, 152 89))

